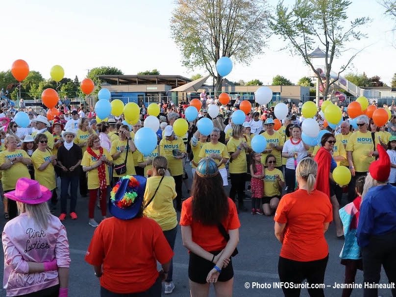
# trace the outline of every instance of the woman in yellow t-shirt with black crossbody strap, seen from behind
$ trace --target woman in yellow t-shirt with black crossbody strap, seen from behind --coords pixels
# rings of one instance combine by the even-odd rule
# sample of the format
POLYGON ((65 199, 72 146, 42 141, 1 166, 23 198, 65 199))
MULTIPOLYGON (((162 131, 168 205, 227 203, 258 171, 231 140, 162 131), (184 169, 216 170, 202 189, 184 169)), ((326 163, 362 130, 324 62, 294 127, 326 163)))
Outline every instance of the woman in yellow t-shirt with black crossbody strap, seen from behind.
MULTIPOLYGON (((173 207, 176 198, 176 185, 168 171, 168 160, 156 156, 152 161, 153 176, 148 177, 143 198, 144 216, 157 222, 169 245, 174 247, 177 233, 177 216, 173 207)), ((173 260, 165 278, 165 294, 171 294, 174 289, 173 260)))

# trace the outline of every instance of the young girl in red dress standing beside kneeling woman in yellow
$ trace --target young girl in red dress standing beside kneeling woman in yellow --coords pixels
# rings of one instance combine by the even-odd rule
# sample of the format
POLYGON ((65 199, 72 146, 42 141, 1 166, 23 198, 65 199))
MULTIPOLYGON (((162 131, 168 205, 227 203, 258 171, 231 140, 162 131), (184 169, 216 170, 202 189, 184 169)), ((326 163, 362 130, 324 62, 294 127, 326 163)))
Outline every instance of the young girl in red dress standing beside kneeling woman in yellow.
POLYGON ((264 195, 264 166, 261 164, 261 154, 252 152, 250 162, 251 214, 263 215, 261 198, 264 195))

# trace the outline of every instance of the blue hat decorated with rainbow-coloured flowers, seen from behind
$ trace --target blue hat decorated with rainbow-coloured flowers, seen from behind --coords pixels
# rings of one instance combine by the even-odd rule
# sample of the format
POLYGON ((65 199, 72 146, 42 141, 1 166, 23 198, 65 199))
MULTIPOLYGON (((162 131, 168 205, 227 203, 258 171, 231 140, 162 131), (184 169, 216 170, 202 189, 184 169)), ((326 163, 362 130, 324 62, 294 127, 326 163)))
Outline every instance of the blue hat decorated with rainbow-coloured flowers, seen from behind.
POLYGON ((126 175, 110 192, 109 212, 121 220, 130 220, 139 213, 146 188, 146 177, 126 175))

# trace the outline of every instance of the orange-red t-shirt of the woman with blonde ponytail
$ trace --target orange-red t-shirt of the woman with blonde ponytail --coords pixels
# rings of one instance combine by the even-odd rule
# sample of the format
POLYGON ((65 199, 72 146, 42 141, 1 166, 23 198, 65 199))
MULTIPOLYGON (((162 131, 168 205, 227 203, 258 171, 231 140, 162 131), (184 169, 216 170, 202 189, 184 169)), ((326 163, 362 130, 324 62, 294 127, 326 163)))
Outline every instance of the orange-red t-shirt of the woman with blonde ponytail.
POLYGON ((323 223, 333 220, 328 196, 318 190, 308 194, 297 190, 286 194, 276 209, 275 222, 286 223, 280 256, 308 262, 323 259, 328 246, 323 233, 323 223))

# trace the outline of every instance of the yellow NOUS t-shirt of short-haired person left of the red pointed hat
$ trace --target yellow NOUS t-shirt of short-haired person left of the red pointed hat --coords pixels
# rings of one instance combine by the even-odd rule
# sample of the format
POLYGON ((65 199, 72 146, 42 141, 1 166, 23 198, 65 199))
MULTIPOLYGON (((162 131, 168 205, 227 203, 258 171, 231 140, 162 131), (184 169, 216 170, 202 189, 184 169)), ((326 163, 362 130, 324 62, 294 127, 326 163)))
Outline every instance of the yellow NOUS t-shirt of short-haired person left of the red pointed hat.
POLYGON ((370 151, 374 150, 370 131, 352 133, 345 150, 352 152, 353 167, 357 172, 367 172, 371 162, 375 160, 374 157, 369 156, 370 151))

